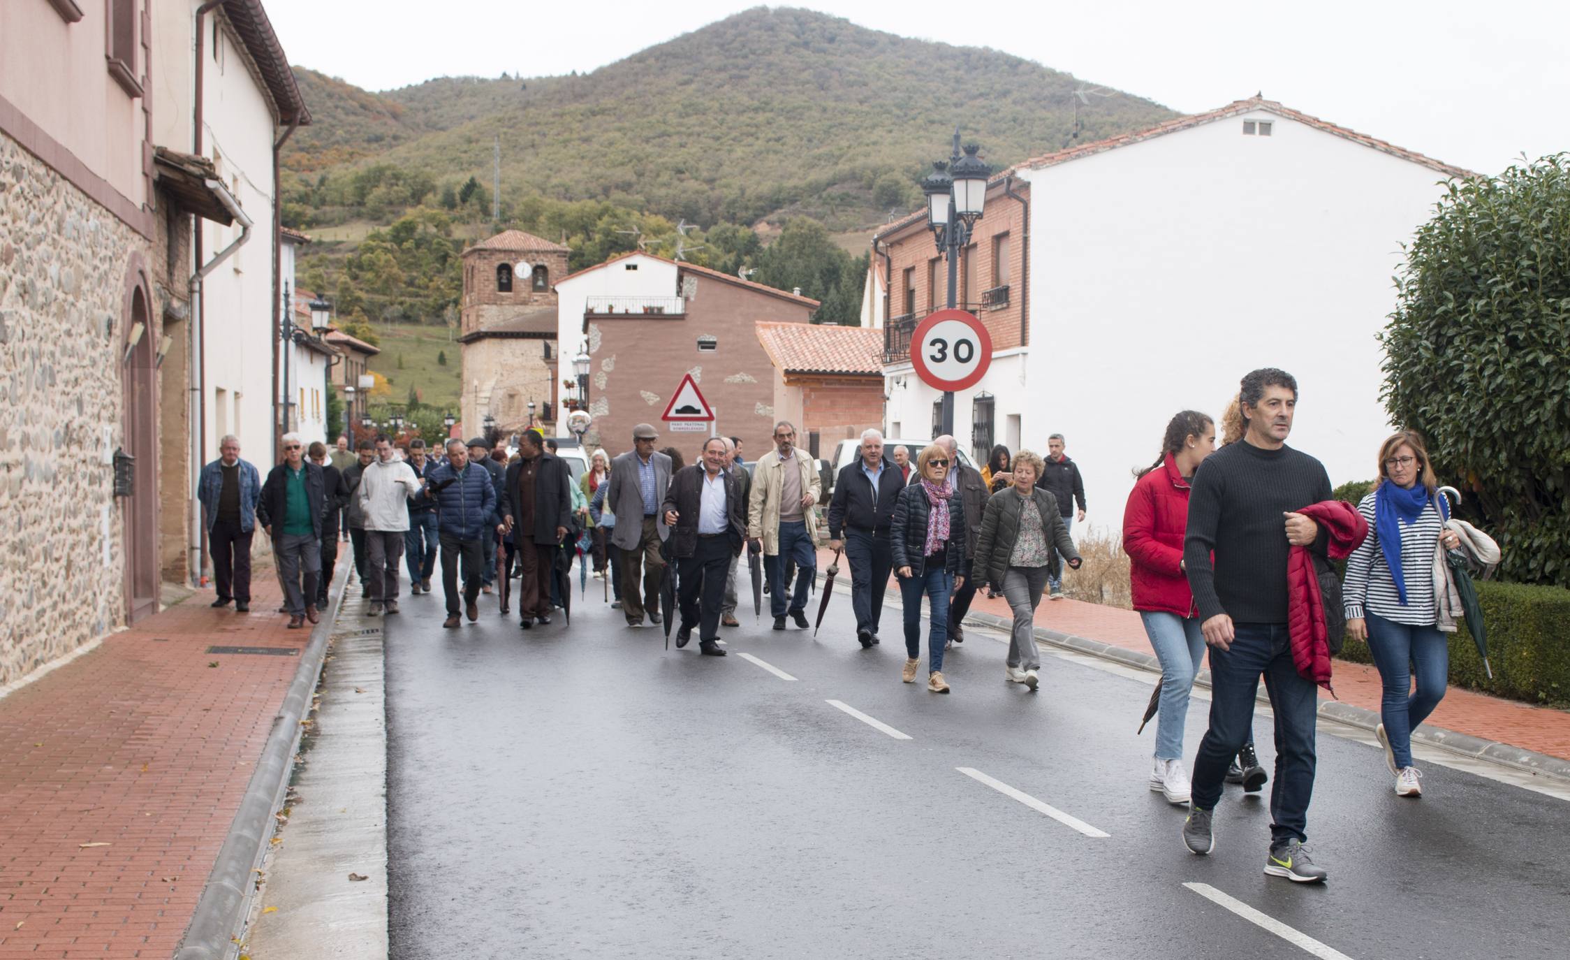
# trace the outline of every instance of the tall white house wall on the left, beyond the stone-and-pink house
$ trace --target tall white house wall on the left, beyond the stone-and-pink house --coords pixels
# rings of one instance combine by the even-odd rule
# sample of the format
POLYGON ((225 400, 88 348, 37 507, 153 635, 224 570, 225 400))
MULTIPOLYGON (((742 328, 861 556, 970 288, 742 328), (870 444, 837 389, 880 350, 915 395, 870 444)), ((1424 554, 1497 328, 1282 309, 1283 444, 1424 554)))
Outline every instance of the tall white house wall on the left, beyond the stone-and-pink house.
MULTIPOLYGON (((195 146, 195 13, 198 0, 152 5, 152 83, 160 104, 152 112, 154 141, 190 152, 195 146)), ((240 437, 242 456, 257 467, 273 460, 273 140, 278 135, 272 102, 261 86, 243 46, 223 25, 218 11, 203 20, 203 134, 201 154, 254 223, 251 239, 207 275, 204 283, 206 361, 204 407, 207 429, 203 459, 218 451, 225 434, 240 437), (214 46, 214 22, 220 22, 214 46), (257 358, 265 358, 257 361, 257 358)), ((228 247, 239 223, 201 223, 199 264, 228 247)))

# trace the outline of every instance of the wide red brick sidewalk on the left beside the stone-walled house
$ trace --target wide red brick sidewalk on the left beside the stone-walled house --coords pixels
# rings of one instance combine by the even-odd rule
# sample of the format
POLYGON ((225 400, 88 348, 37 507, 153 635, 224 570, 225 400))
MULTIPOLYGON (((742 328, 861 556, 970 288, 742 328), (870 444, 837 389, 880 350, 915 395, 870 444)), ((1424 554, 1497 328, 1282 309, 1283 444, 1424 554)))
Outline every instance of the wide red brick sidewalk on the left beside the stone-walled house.
POLYGON ((0 699, 0 958, 174 954, 311 638, 275 577, 248 614, 212 599, 0 699))

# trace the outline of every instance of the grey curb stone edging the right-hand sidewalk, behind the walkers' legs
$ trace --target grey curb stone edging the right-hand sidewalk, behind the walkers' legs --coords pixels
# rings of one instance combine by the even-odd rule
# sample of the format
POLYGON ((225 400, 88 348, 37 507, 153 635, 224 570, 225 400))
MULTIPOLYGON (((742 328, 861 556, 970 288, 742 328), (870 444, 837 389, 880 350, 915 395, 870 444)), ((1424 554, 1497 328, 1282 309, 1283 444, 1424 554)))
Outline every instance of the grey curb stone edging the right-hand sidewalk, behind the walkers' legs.
MULTIPOLYGON (((818 570, 818 580, 824 578, 823 570, 818 570)), ((835 583, 835 589, 849 594, 849 580, 835 583)), ((898 599, 898 594, 895 594, 898 599)), ((991 627, 994 630, 1010 632, 1014 625, 1013 619, 1005 619, 992 613, 969 613, 964 622, 978 624, 981 627, 991 627)), ((1047 630, 1046 627, 1036 627, 1036 641, 1047 643, 1055 647, 1063 647, 1074 650, 1077 654, 1085 654, 1088 657, 1097 657, 1101 660, 1112 660, 1123 663, 1124 666, 1132 666, 1135 669, 1143 669, 1152 674, 1162 672, 1162 665, 1156 658, 1156 654, 1146 654, 1143 650, 1129 650, 1124 647, 1115 647, 1108 643, 1099 639, 1091 639, 1088 636, 1075 636, 1072 633, 1063 633, 1058 630, 1047 630)), ((1210 671, 1201 669, 1198 677, 1195 677, 1198 687, 1209 690, 1210 687, 1210 671)), ((1254 698, 1259 702, 1269 704, 1270 696, 1261 688, 1254 698)), ((1341 701, 1320 701, 1317 713, 1327 720, 1334 720, 1347 726, 1355 726, 1374 732, 1378 726, 1380 716, 1377 712, 1366 707, 1355 707, 1352 704, 1344 704, 1341 701)), ((1422 724, 1419 729, 1413 731, 1411 738, 1426 743, 1429 746, 1437 746, 1449 753, 1473 757, 1477 760, 1488 760, 1501 767, 1509 767, 1512 770, 1520 770, 1524 773, 1532 773, 1537 776, 1551 776, 1554 779, 1562 779, 1570 782, 1570 760, 1553 757, 1545 753, 1537 753, 1532 749, 1523 749, 1520 746, 1510 746, 1509 743, 1501 743, 1498 740, 1487 740, 1484 737, 1473 737, 1471 734, 1459 734, 1455 731, 1446 731, 1443 727, 1435 727, 1422 724)))

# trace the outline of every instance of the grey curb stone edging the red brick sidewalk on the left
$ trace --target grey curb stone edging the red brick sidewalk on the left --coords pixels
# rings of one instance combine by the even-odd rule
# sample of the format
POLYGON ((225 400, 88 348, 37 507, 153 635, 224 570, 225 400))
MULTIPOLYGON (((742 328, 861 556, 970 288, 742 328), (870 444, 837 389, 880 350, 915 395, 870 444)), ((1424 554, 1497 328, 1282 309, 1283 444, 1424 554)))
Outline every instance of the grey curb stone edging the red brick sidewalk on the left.
POLYGON ((311 691, 316 690, 322 672, 327 641, 344 603, 344 584, 349 583, 352 566, 339 564, 333 577, 330 616, 323 616, 322 622, 312 627, 311 639, 300 654, 300 666, 273 716, 267 746, 256 760, 251 782, 245 787, 240 809, 236 811, 234 823, 229 825, 223 847, 218 848, 174 960, 220 960, 239 952, 236 940, 256 894, 251 870, 261 864, 267 841, 273 834, 273 812, 283 804, 284 789, 289 786, 294 754, 300 748, 300 721, 311 707, 311 691))

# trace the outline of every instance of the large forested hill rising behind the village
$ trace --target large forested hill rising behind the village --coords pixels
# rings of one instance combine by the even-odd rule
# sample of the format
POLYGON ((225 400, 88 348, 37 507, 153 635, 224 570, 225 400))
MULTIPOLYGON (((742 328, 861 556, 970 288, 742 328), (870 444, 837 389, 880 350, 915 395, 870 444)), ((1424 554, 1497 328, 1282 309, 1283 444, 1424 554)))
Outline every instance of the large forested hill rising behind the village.
POLYGON ((749 9, 584 75, 367 93, 295 72, 314 123, 286 148, 284 198, 308 228, 386 223, 441 198, 454 209, 471 176, 463 200, 488 207, 499 137, 504 218, 539 195, 703 226, 804 214, 860 229, 918 201, 956 124, 1002 165, 1173 116, 1019 57, 790 8, 749 9), (367 176, 374 167, 388 176, 367 176))

